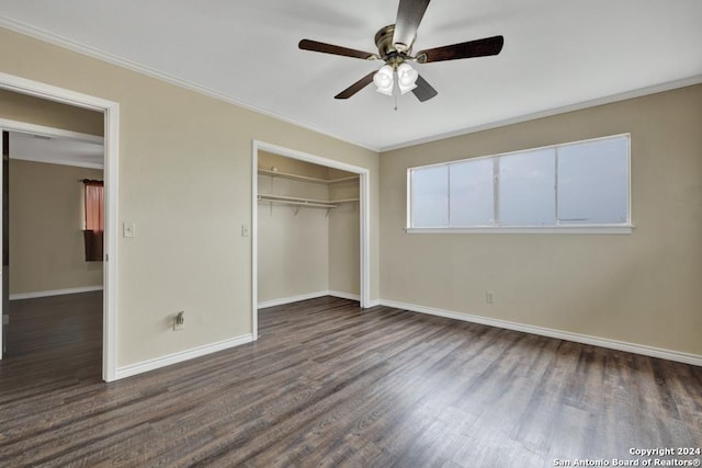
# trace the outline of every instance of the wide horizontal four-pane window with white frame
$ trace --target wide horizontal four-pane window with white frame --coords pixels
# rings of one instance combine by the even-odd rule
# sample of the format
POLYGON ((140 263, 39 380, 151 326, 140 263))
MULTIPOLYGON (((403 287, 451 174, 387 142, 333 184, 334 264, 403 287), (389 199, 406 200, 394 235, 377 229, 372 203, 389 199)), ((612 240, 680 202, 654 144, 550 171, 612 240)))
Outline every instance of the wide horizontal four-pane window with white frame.
POLYGON ((630 136, 408 170, 409 232, 631 232, 630 136))

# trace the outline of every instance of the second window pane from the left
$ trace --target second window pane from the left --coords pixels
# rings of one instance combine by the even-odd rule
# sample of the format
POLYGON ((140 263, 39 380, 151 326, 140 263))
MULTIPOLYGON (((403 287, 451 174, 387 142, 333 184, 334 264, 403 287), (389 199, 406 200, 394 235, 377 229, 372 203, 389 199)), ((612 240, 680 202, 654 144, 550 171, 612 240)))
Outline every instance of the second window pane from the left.
POLYGON ((449 168, 451 226, 492 226, 495 184, 492 158, 457 162, 449 168))

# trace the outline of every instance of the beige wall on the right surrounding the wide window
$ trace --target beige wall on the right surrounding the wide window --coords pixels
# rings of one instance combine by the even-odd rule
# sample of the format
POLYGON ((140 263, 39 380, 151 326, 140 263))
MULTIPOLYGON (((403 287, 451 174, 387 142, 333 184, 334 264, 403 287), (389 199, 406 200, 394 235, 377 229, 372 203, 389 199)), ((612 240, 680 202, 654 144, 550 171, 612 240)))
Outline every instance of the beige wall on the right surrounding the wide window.
POLYGON ((695 85, 381 155, 381 296, 702 354, 701 129, 695 85), (621 133, 630 236, 403 231, 408 167, 621 133))

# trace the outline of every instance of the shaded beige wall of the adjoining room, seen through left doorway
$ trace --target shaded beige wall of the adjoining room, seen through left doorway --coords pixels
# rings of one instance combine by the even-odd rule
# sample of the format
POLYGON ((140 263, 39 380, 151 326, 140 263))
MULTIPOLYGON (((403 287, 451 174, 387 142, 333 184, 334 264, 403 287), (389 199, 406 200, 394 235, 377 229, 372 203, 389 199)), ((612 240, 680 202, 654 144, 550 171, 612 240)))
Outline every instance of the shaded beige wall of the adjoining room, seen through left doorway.
POLYGON ((102 171, 10 160, 11 295, 102 286, 102 262, 86 262, 81 179, 102 171))

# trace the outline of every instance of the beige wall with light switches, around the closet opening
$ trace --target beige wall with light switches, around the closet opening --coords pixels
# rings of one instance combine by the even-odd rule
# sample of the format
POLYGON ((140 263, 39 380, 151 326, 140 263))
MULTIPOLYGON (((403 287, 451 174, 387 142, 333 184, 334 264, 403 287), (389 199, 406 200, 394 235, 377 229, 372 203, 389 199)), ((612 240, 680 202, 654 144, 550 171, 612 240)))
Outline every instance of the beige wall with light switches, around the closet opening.
MULTIPOLYGON (((251 141, 369 169, 377 155, 0 28, 4 72, 120 103, 117 367, 251 333, 251 141), (185 311, 185 329, 171 317, 185 311)), ((378 207, 371 206, 377 299, 378 207)))

